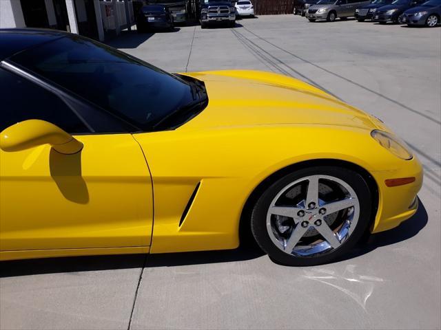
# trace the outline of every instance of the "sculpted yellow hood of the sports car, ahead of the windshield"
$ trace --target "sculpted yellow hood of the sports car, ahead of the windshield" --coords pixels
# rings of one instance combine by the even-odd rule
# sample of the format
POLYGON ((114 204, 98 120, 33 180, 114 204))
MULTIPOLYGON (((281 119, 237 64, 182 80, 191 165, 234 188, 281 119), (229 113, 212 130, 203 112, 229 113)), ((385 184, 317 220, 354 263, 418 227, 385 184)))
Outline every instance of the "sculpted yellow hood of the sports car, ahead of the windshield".
POLYGON ((367 113, 314 86, 280 74, 237 70, 185 75, 203 80, 209 102, 204 111, 181 129, 274 124, 380 128, 367 113))

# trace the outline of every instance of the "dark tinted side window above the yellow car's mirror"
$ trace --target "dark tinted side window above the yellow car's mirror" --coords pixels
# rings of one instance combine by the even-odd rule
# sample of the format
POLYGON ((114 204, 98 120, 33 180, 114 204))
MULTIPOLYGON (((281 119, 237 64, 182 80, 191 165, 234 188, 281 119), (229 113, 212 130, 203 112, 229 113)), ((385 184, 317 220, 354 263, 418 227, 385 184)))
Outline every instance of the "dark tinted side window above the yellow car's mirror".
POLYGON ((0 131, 23 120, 41 119, 68 133, 90 133, 58 96, 4 69, 0 69, 0 100, 0 131))

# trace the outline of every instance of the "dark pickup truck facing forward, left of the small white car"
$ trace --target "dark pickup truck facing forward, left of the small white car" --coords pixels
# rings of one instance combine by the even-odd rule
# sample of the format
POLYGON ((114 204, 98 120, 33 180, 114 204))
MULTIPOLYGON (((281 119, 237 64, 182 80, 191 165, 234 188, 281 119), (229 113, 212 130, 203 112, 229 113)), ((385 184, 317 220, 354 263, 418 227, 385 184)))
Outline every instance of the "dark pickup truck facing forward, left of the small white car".
POLYGON ((227 23, 230 27, 236 24, 236 8, 231 1, 201 1, 201 28, 211 23, 227 23))

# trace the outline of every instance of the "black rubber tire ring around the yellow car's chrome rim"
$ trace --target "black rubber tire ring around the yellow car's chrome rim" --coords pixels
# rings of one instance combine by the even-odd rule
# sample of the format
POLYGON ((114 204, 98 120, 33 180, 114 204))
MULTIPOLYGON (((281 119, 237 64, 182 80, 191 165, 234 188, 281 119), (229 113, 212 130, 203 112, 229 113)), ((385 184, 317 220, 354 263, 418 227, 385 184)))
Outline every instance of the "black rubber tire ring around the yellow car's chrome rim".
POLYGON ((251 216, 251 229, 254 239, 262 248, 262 250, 269 255, 271 259, 277 263, 283 265, 291 266, 310 266, 310 265, 321 265, 324 263, 329 263, 335 261, 336 259, 341 259, 350 252, 353 246, 360 241, 362 236, 367 232, 367 226, 371 222, 372 214, 372 199, 369 186, 365 179, 359 173, 349 170, 347 168, 338 168, 335 166, 316 166, 310 168, 303 168, 297 170, 294 173, 290 173, 278 179, 278 181, 271 184, 263 192, 256 202, 251 216), (283 190, 287 185, 292 182, 308 177, 309 175, 331 175, 342 181, 345 181, 355 192, 358 197, 360 206, 360 215, 356 227, 347 238, 344 243, 342 243, 338 248, 325 252, 323 254, 317 254, 316 256, 295 256, 293 254, 287 254, 280 250, 271 238, 269 237, 267 231, 267 211, 271 205, 271 201, 278 195, 278 192, 283 190))

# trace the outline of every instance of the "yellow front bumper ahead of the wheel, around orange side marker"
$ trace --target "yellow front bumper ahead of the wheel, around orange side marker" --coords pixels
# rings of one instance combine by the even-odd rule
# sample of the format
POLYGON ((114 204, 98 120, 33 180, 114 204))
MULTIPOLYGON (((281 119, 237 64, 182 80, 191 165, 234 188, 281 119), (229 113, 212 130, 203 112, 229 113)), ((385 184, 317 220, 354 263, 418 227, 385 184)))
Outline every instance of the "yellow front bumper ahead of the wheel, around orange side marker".
POLYGON ((418 209, 417 193, 422 186, 423 172, 420 161, 415 156, 404 160, 400 169, 392 171, 373 171, 378 185, 378 211, 371 232, 382 232, 397 227, 402 221, 409 219, 418 209), (411 184, 388 187, 386 179, 415 177, 411 184))

